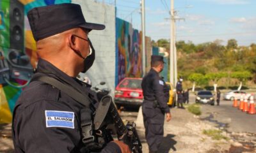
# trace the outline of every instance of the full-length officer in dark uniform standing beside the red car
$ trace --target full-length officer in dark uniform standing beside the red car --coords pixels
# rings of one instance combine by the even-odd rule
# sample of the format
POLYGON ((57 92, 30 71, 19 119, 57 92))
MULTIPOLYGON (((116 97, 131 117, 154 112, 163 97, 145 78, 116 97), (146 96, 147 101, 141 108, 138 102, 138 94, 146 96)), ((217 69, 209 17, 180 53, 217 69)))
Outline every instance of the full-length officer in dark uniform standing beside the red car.
POLYGON ((163 56, 152 55, 151 69, 143 77, 141 87, 144 101, 142 103, 145 135, 149 152, 157 152, 164 133, 164 113, 166 121, 171 120, 170 108, 167 105, 168 98, 164 96, 164 85, 159 73, 163 71, 163 56))

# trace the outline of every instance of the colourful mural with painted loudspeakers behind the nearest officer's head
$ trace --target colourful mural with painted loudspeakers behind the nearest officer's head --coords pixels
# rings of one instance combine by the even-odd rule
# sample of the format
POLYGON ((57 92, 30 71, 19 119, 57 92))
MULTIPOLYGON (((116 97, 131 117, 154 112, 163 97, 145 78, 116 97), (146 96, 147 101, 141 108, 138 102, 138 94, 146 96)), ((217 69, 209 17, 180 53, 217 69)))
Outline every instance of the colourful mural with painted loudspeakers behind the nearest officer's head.
POLYGON ((71 0, 0 1, 0 123, 12 122, 15 102, 38 61, 26 15, 36 6, 60 3, 71 0))

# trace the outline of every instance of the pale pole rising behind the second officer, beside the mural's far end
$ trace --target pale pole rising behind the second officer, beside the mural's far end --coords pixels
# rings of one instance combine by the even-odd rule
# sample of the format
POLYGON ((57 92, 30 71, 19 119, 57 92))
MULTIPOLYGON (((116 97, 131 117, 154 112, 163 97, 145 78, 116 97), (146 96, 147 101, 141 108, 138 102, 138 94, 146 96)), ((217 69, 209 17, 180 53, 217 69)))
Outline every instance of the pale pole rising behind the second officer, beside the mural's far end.
POLYGON ((146 45, 145 45, 145 0, 141 0, 141 32, 142 32, 142 71, 146 74, 146 45))

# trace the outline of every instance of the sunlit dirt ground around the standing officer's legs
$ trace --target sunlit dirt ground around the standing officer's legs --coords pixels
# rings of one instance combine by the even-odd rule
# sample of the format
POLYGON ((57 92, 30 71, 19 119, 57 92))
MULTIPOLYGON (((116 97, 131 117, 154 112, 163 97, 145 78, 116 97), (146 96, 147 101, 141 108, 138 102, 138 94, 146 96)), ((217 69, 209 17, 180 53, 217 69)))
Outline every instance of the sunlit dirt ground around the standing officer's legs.
MULTIPOLYGON (((164 123, 164 140, 159 152, 179 153, 241 153, 256 152, 256 135, 251 133, 228 133, 215 124, 201 120, 200 117, 189 113, 187 110, 173 108, 172 120, 164 123), (228 140, 212 140, 210 136, 204 135, 204 130, 222 130, 221 135, 228 140)), ((137 129, 143 142, 143 152, 148 152, 145 141, 145 131, 141 124, 140 113, 137 119, 137 129)))

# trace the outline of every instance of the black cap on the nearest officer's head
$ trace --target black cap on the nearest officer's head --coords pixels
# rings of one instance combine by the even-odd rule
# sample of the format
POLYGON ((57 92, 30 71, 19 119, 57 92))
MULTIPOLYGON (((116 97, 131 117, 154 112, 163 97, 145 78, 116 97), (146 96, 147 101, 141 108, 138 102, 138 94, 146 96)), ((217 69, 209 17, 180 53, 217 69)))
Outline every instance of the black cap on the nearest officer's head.
POLYGON ((36 41, 76 27, 88 31, 105 29, 105 25, 86 22, 81 6, 72 3, 33 8, 28 12, 28 20, 36 41))

